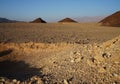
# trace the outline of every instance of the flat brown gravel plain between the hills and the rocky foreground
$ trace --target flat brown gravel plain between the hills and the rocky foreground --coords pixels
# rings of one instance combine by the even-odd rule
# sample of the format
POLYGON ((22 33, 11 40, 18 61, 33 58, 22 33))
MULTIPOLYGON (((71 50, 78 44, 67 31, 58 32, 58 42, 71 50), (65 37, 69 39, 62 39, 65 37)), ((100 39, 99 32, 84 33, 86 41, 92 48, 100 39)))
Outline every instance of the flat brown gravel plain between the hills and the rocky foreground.
POLYGON ((1 23, 0 42, 101 43, 120 34, 119 27, 96 23, 1 23))

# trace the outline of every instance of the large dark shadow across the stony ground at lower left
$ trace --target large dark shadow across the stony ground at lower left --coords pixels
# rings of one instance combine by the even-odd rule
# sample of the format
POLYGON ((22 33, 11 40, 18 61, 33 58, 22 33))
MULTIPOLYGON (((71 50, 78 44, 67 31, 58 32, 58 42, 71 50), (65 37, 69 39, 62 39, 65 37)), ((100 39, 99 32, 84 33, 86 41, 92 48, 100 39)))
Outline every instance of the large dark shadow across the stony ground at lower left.
POLYGON ((24 61, 3 61, 0 62, 0 77, 7 77, 8 79, 17 79, 25 81, 33 76, 42 77, 42 68, 33 68, 24 61))

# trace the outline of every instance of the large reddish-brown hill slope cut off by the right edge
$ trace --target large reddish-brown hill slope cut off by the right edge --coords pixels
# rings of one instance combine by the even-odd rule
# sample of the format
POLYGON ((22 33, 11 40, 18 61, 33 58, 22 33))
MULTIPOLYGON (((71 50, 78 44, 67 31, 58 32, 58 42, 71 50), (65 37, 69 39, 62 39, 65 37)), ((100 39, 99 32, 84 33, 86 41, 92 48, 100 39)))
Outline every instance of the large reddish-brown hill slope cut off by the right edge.
POLYGON ((120 11, 106 17, 101 20, 100 23, 102 23, 103 26, 120 27, 120 11))

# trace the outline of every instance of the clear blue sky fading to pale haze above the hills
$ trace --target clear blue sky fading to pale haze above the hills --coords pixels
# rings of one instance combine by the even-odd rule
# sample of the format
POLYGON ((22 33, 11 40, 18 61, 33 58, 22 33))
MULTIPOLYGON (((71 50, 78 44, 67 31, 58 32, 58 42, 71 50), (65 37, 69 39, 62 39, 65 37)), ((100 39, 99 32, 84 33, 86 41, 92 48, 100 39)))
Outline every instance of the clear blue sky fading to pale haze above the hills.
POLYGON ((120 0, 0 0, 0 17, 25 21, 105 16, 118 10, 120 0))

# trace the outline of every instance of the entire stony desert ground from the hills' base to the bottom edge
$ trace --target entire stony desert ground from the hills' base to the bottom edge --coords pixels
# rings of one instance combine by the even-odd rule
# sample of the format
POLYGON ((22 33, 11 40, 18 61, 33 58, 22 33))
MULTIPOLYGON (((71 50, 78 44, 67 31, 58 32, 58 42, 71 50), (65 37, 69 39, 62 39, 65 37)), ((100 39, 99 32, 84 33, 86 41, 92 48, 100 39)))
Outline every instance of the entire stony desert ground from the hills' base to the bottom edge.
POLYGON ((0 24, 0 33, 1 84, 120 84, 119 27, 0 24))

